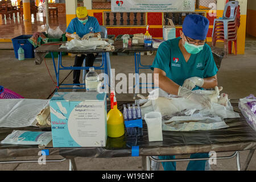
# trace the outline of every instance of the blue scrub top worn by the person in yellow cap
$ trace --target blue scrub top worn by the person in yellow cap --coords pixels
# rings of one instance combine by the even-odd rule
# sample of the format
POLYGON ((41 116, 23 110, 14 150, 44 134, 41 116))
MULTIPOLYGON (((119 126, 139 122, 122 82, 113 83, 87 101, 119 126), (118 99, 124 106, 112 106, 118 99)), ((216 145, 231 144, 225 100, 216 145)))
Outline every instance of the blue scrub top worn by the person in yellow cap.
POLYGON ((82 38, 85 34, 90 32, 96 33, 101 32, 100 24, 98 24, 97 18, 93 16, 88 16, 88 21, 85 24, 79 22, 78 18, 74 18, 68 25, 66 32, 73 34, 76 32, 82 38))

